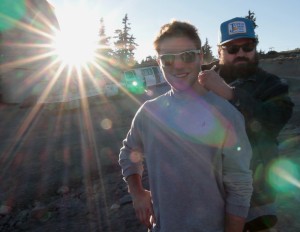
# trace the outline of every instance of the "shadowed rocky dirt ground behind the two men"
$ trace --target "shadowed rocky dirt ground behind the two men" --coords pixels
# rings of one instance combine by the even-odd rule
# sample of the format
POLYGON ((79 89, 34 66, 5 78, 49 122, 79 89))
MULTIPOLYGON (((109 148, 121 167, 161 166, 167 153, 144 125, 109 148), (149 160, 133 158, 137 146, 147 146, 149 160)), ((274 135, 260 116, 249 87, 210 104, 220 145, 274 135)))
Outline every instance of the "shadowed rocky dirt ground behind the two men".
MULTIPOLYGON (((298 232, 300 77, 288 81, 295 111, 279 137, 280 152, 299 175, 292 179, 298 187, 278 196, 277 231, 298 232)), ((121 141, 146 98, 95 97, 81 108, 0 105, 0 231, 147 231, 117 165, 121 141)))

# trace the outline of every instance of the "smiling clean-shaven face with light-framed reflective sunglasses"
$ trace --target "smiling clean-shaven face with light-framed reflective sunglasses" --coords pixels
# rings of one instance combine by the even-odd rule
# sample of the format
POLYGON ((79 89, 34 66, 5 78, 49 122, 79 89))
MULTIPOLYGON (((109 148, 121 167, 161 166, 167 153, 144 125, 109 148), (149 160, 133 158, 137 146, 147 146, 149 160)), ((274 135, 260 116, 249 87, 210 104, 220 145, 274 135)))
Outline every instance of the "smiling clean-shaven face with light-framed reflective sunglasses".
POLYGON ((201 54, 187 37, 163 40, 159 46, 158 64, 173 89, 184 91, 197 81, 201 68, 201 54))

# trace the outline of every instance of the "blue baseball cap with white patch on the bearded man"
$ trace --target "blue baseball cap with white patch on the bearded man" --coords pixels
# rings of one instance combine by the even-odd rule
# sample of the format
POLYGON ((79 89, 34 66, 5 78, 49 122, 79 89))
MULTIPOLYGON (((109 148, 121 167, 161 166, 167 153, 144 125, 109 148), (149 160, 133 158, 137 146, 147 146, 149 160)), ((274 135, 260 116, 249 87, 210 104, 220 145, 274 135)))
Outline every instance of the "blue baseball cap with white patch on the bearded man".
POLYGON ((254 23, 247 18, 233 18, 225 21, 220 26, 219 45, 236 39, 255 39, 254 23))

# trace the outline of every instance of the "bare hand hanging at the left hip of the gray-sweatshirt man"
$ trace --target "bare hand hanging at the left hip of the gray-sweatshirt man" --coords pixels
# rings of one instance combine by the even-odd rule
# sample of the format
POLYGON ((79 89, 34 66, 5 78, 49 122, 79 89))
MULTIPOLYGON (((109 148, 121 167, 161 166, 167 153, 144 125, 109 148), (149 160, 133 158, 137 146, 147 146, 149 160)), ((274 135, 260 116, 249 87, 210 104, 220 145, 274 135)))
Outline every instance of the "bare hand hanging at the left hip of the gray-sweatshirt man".
POLYGON ((152 228, 152 225, 155 224, 156 221, 152 206, 151 192, 143 190, 132 196, 132 200, 137 218, 148 228, 152 228))

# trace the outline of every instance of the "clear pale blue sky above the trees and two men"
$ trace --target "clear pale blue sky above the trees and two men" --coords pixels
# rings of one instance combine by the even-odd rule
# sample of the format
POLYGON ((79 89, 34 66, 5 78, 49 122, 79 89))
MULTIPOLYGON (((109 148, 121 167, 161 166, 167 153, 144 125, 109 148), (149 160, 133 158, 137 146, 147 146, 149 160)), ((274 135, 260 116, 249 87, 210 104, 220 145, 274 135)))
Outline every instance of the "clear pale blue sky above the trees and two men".
MULTIPOLYGON (((77 19, 86 19, 95 32, 103 17, 106 34, 114 36, 114 30, 122 28, 122 19, 128 14, 131 34, 139 44, 135 52, 137 60, 155 55, 152 41, 161 25, 171 19, 194 24, 202 41, 208 39, 216 55, 220 23, 234 17, 245 17, 248 11, 255 13, 259 36, 259 50, 268 52, 300 48, 299 0, 48 0, 57 11, 61 24, 76 9, 77 19), (83 13, 83 14, 82 14, 83 13), (79 15, 80 14, 80 15, 79 15), (88 19, 88 20, 87 20, 88 19), (93 26, 92 26, 93 25, 93 26)), ((74 22, 74 20, 73 20, 74 22)), ((70 26, 70 24, 66 24, 70 26)), ((71 24, 77 28, 79 23, 71 24)), ((84 26, 82 27, 82 29, 84 26)), ((77 28, 78 33, 81 27, 77 28)))

